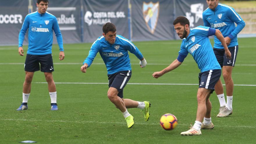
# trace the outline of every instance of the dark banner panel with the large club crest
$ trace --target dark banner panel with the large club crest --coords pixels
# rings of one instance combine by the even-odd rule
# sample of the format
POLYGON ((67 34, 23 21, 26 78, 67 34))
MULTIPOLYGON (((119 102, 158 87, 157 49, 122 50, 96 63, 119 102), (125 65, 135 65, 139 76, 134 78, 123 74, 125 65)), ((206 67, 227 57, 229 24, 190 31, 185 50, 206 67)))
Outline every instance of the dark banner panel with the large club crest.
POLYGON ((173 0, 131 0, 132 40, 172 40, 173 0))

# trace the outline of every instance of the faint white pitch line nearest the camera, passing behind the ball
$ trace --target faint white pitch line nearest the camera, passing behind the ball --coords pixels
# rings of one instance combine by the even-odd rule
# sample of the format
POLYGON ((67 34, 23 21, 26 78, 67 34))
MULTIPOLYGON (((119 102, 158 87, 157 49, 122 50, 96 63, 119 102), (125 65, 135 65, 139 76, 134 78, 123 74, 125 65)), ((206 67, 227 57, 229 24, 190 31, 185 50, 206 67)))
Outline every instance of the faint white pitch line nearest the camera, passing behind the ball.
MULTIPOLYGON (((70 122, 70 123, 99 123, 99 124, 124 124, 126 125, 126 122, 97 122, 97 121, 66 121, 66 120, 26 120, 26 119, 0 119, 0 120, 5 120, 5 121, 29 121, 29 122, 70 122)), ((136 122, 136 125, 160 125, 159 123, 141 123, 141 122, 136 122)), ((178 125, 183 125, 187 126, 189 124, 181 124, 179 123, 178 125)), ((244 125, 237 125, 237 126, 232 126, 232 125, 214 125, 215 127, 245 127, 245 128, 256 128, 255 126, 244 126, 244 125)))

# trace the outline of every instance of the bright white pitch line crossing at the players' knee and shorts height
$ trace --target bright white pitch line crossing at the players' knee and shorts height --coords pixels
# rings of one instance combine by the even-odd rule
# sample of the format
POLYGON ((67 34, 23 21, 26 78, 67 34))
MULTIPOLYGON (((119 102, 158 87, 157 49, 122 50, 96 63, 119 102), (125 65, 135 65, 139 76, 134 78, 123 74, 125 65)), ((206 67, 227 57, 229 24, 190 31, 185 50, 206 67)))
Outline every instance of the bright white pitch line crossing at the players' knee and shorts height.
MULTIPOLYGON (((47 82, 34 82, 34 83, 47 83, 47 82)), ((109 83, 72 83, 72 82, 55 82, 56 84, 109 84, 109 83)), ((135 85, 198 85, 193 83, 127 83, 135 85)), ((225 84, 223 84, 225 86, 225 84)), ((234 86, 256 86, 253 84, 234 84, 234 86)))

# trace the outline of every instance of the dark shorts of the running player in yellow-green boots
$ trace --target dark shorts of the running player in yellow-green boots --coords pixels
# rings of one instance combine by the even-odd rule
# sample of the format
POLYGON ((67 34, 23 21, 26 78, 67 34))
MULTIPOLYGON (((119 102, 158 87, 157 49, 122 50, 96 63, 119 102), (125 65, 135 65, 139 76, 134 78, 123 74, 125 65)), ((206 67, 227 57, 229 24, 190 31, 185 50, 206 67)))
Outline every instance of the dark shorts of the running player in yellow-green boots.
POLYGON ((114 74, 108 74, 109 88, 113 87, 118 90, 118 97, 123 98, 123 89, 131 78, 131 70, 120 71, 114 74))

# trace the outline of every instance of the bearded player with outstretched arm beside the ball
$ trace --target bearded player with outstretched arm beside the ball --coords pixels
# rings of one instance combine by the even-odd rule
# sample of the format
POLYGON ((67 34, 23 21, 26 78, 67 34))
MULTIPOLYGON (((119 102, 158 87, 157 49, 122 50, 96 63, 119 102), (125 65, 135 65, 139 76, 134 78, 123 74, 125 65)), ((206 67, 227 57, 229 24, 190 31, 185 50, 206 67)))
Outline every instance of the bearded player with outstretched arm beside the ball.
POLYGON ((182 64, 188 53, 193 56, 195 62, 198 64, 198 68, 201 70, 198 76, 199 88, 197 92, 198 107, 196 121, 191 129, 182 132, 181 135, 200 135, 201 128, 214 128, 211 122, 211 102, 209 97, 221 76, 221 66, 218 64, 208 37, 215 35, 221 41, 228 58, 231 58, 231 53, 227 48, 223 35, 218 29, 212 29, 206 26, 198 26, 190 29, 189 20, 183 16, 177 17, 173 25, 179 38, 183 39, 179 56, 168 67, 160 72, 154 72, 152 76, 159 78, 163 74, 174 70, 182 64), (203 119, 204 123, 202 124, 203 119))

